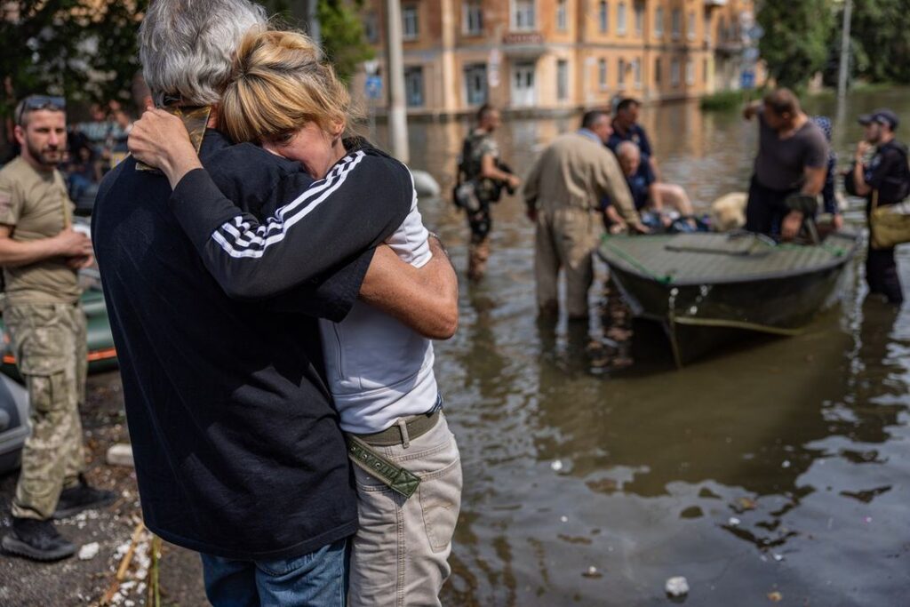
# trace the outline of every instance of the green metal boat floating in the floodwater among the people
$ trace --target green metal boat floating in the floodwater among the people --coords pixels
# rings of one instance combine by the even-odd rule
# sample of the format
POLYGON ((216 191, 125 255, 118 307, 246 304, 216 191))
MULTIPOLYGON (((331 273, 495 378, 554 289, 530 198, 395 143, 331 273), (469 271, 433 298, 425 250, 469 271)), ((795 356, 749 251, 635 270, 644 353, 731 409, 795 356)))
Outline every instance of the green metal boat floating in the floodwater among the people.
POLYGON ((636 319, 658 322, 677 366, 749 332, 795 335, 829 306, 858 236, 819 245, 757 234, 607 236, 599 248, 636 319))

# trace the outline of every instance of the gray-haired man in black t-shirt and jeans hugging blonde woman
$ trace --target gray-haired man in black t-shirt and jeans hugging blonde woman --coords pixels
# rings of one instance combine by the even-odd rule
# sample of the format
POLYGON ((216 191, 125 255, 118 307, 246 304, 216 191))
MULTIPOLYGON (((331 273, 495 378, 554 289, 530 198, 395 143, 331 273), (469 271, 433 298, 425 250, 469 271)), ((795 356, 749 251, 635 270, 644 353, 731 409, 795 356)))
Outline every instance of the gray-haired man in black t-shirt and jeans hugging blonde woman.
MULTIPOLYGON (((433 238, 420 269, 378 247, 410 199, 379 202, 376 183, 354 178, 344 204, 319 204, 298 163, 214 128, 238 43, 265 23, 248 0, 150 5, 144 76, 157 105, 200 123, 191 132, 206 170, 169 183, 167 167, 143 170, 134 157, 118 165, 96 201, 96 257, 147 527, 202 554, 215 605, 343 605, 357 497, 318 319, 339 322, 360 298, 432 335, 450 304, 440 293, 456 278, 433 238), (243 213, 200 221, 177 204, 222 194, 243 213), (272 284, 245 288, 231 280, 233 266, 207 265, 205 251, 224 234, 278 207, 279 225, 250 235, 241 253, 297 243, 272 284)), ((348 168, 347 177, 359 170, 348 168)))

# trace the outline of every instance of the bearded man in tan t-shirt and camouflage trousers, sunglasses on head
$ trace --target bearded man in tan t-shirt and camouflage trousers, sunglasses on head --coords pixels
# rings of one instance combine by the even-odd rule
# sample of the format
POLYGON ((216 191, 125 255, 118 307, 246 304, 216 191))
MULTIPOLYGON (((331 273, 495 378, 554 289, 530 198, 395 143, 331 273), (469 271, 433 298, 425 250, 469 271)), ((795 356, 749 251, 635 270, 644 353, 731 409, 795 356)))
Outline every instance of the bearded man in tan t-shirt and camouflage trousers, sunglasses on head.
POLYGON ((31 406, 7 552, 36 561, 76 546, 52 519, 114 501, 83 477, 79 403, 86 390, 86 316, 77 272, 93 262, 92 243, 72 228, 72 202, 56 166, 66 149, 65 102, 30 96, 16 109, 22 155, 0 170, 3 318, 31 406))

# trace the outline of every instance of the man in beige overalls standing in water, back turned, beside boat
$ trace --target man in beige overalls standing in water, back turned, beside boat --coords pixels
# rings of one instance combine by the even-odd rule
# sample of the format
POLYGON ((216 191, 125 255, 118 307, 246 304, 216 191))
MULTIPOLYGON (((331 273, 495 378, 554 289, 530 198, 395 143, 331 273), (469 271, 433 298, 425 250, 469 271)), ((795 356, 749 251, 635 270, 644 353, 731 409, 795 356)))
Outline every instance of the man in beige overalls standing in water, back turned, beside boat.
POLYGON ((528 218, 537 224, 534 273, 541 314, 559 312, 556 283, 560 268, 565 268, 569 319, 588 318, 591 253, 603 233, 602 197, 611 198, 632 230, 646 231, 622 169, 603 145, 611 132, 606 112, 588 112, 581 129, 557 137, 543 150, 525 179, 528 218))

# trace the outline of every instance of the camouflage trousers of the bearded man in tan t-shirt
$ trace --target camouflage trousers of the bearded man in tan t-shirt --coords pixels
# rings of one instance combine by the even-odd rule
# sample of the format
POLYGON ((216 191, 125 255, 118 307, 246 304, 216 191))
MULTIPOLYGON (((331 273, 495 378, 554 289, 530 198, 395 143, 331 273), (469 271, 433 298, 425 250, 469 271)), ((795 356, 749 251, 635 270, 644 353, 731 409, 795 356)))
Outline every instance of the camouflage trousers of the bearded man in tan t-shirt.
POLYGON ((86 465, 79 420, 86 400, 86 314, 78 304, 19 304, 7 305, 3 318, 32 423, 12 513, 45 520, 86 465))

